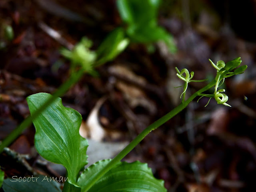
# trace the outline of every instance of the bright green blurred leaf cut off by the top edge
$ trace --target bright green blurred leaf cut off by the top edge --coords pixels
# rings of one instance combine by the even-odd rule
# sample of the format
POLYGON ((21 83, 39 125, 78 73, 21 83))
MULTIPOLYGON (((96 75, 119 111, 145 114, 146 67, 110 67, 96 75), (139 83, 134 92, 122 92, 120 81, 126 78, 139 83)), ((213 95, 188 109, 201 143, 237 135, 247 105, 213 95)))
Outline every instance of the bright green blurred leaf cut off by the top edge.
POLYGON ((157 24, 161 0, 118 0, 122 20, 128 25, 126 33, 133 42, 151 44, 162 40, 171 52, 176 51, 172 36, 157 24))

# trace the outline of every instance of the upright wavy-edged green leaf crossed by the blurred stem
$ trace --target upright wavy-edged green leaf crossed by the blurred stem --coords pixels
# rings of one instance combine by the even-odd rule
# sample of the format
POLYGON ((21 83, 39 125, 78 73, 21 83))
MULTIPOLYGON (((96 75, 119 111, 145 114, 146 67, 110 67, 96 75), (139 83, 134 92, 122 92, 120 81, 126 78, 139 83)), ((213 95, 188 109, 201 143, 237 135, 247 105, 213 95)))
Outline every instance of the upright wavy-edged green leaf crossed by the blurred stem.
MULTIPOLYGON (((52 95, 37 93, 27 97, 31 115, 52 95)), ((78 173, 87 164, 86 139, 79 135, 82 122, 80 113, 64 107, 57 98, 34 121, 36 128, 35 146, 45 159, 66 167, 68 178, 75 184, 78 173)))

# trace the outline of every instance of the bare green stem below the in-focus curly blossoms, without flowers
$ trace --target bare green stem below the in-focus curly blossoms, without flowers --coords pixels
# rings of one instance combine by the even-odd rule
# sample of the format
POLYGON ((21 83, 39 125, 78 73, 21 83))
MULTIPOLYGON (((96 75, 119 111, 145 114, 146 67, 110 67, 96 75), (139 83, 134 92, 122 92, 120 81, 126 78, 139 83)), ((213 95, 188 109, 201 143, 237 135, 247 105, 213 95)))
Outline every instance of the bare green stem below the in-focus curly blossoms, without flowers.
POLYGON ((92 179, 92 182, 90 182, 90 184, 85 186, 83 191, 87 192, 104 174, 106 174, 106 172, 108 172, 111 168, 113 168, 118 162, 120 162, 120 160, 122 160, 122 158, 124 158, 124 156, 126 156, 137 144, 139 144, 140 141, 142 141, 142 139, 144 139, 144 137, 146 137, 146 135, 148 135, 148 133, 150 133, 154 129, 157 129, 158 127, 160 127, 161 125, 166 123, 166 121, 170 120, 172 117, 174 117, 175 115, 180 113, 180 111, 182 111, 184 108, 186 108, 187 105, 195 97, 199 96, 204 91, 207 91, 208 89, 213 87, 215 84, 216 84, 216 80, 214 79, 208 85, 206 85, 204 88, 200 89, 199 91, 197 91, 196 93, 191 95, 186 101, 182 102, 180 105, 175 107, 172 111, 170 111, 169 113, 167 113, 166 115, 164 115, 163 117, 161 117, 160 119, 158 119, 157 121, 155 121, 154 123, 149 125, 146 129, 144 129, 130 144, 128 144, 102 170, 100 170, 100 172, 98 172, 98 174, 96 174, 94 176, 94 178, 92 179))

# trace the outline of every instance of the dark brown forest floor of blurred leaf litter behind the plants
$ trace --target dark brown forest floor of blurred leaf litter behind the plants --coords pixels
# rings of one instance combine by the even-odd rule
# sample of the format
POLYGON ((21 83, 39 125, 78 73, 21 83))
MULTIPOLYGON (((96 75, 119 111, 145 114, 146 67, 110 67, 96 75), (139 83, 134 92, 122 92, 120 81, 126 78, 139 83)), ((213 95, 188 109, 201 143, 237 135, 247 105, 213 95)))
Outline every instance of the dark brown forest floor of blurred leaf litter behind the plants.
MULTIPOLYGON (((26 97, 53 93, 70 75, 70 63, 60 55, 60 48, 70 48, 86 36, 95 49, 120 26, 114 0, 75 2, 0 1, 0 140, 28 117, 26 97), (4 38, 7 25, 14 30, 12 41, 4 38)), ((83 117, 80 134, 92 140, 89 158, 96 156, 90 164, 113 157, 120 146, 181 102, 182 88, 174 88, 182 85, 175 67, 194 71, 195 79, 211 80, 216 70, 209 58, 216 63, 241 57, 248 65, 246 73, 224 83, 232 107, 214 99, 204 107, 207 98, 195 100, 124 160, 148 163, 168 192, 256 191, 256 43, 238 36, 210 4, 190 13, 197 19, 184 20, 175 15, 179 5, 168 9, 168 2, 160 9, 159 24, 174 36, 176 53, 169 53, 162 42, 154 45, 152 53, 145 45, 131 44, 114 61, 96 69, 99 77, 84 75, 62 96, 64 106, 83 117), (96 121, 93 128, 89 119, 96 121)), ((187 95, 204 85, 191 83, 187 95)), ((34 172, 64 176, 62 167, 37 154, 34 133, 31 125, 9 146, 10 152, 0 155, 5 176, 34 172)))

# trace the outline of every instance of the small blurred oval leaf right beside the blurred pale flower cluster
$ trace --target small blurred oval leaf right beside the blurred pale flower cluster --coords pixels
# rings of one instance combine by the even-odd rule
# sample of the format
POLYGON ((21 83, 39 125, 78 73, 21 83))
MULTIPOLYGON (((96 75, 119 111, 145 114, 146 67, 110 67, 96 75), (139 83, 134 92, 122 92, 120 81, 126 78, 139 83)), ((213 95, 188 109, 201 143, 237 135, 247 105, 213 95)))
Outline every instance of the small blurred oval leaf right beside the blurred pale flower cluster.
POLYGON ((100 44, 97 50, 98 65, 112 61, 129 44, 128 38, 125 38, 123 28, 117 28, 112 31, 100 44))

